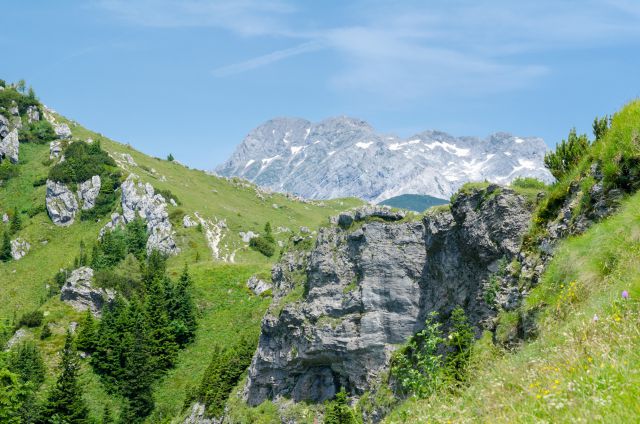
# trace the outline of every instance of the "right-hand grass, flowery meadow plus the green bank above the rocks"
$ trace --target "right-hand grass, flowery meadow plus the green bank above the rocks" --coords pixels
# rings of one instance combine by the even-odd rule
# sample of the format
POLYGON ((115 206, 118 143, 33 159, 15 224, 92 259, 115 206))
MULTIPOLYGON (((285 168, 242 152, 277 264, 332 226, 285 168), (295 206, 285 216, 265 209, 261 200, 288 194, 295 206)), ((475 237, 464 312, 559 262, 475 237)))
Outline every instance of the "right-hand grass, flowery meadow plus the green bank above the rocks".
MULTIPOLYGON (((616 214, 560 243, 540 282, 500 331, 534 317, 536 337, 515 350, 486 333, 472 349, 466 383, 409 399, 386 422, 640 421, 640 101, 614 115, 533 218, 525 249, 547 235, 569 196, 572 216, 596 205, 594 170, 625 195, 616 214)), ((499 337, 498 337, 499 339, 499 337)))

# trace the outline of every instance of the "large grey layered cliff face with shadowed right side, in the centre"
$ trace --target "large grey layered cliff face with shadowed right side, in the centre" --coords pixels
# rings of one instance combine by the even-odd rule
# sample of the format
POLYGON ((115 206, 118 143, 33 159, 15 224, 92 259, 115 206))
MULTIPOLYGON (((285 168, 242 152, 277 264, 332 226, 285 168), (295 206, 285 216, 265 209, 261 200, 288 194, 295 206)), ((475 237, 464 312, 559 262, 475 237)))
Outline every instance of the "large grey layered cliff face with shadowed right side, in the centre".
POLYGON ((490 186, 418 222, 322 229, 311 252, 288 253, 273 269, 275 298, 262 322, 247 401, 323 401, 340 387, 361 394, 429 312, 446 317, 461 305, 478 324, 492 313, 483 284, 501 258, 517 253, 529 219, 521 196, 490 186), (306 276, 306 296, 281 308, 303 284, 296 275, 306 276))

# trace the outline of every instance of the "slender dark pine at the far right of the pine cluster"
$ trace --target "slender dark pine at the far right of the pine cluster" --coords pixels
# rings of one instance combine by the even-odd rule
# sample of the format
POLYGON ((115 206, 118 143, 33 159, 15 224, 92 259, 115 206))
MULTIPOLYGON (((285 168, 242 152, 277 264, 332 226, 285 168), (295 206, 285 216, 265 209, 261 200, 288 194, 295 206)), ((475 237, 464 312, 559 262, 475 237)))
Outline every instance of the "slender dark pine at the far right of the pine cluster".
POLYGON ((184 265, 180 279, 174 288, 173 301, 170 306, 170 318, 176 342, 184 346, 195 338, 196 307, 191 297, 192 281, 189 268, 184 265))

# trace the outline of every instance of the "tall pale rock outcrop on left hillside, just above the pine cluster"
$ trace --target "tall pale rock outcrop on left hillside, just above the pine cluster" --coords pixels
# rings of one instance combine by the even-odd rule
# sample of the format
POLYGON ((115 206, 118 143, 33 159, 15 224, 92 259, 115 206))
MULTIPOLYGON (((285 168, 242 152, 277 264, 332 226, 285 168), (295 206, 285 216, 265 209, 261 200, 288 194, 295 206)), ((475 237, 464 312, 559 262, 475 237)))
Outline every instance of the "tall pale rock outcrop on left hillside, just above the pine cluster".
POLYGON ((173 238, 171 222, 167 213, 167 202, 160 194, 155 194, 151 184, 137 180, 129 175, 122 183, 122 215, 124 222, 135 219, 136 214, 147 221, 147 252, 158 250, 167 255, 177 254, 180 250, 173 238))

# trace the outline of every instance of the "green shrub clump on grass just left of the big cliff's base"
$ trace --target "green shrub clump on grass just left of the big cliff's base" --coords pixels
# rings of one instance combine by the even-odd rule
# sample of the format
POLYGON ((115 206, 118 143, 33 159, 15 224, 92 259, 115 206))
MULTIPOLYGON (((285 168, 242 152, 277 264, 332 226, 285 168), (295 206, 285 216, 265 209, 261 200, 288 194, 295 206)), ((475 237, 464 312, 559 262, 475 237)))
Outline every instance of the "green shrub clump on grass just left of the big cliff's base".
POLYGON ((229 393, 251 363, 256 342, 243 338, 234 346, 214 347, 197 391, 197 397, 207 406, 210 416, 219 417, 224 411, 229 393))

